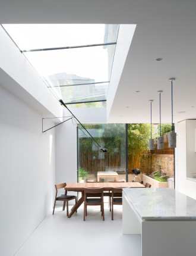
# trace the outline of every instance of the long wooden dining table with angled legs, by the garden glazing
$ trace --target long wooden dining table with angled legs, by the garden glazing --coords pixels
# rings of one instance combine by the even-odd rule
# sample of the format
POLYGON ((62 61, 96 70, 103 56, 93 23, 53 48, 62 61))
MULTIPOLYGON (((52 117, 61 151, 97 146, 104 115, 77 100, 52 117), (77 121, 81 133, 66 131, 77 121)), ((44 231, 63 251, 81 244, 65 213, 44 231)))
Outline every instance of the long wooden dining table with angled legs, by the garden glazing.
POLYGON ((112 190, 112 188, 145 188, 145 186, 139 182, 89 182, 89 183, 68 183, 65 187, 67 191, 81 192, 81 198, 72 207, 71 213, 69 213, 68 218, 70 218, 75 211, 84 202, 84 188, 103 188, 104 191, 112 190))

